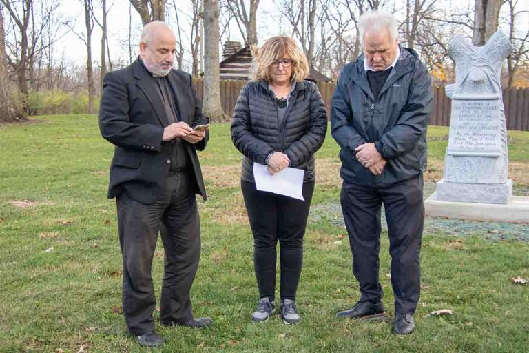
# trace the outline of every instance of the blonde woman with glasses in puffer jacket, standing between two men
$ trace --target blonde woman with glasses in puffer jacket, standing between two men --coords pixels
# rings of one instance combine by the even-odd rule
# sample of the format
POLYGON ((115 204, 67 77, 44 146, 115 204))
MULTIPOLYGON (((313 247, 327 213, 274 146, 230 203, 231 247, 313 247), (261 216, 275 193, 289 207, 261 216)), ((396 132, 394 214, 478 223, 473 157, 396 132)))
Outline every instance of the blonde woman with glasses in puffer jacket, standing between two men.
POLYGON ((253 321, 267 321, 275 305, 276 245, 280 243, 281 317, 298 323, 295 292, 301 274, 303 234, 314 191, 314 153, 327 129, 324 103, 314 83, 304 81, 307 58, 289 37, 272 37, 254 52, 253 81, 240 91, 231 139, 244 154, 241 188, 253 232, 253 264, 260 301, 253 321), (304 170, 304 201, 256 190, 253 163, 271 174, 304 170))

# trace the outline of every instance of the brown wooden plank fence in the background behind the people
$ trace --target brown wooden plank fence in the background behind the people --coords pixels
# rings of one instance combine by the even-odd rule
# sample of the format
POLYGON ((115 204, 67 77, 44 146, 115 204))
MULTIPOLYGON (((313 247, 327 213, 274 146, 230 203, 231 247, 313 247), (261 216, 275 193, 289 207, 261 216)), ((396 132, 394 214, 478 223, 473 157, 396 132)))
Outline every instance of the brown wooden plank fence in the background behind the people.
MULTIPOLYGON (((203 79, 194 80, 198 97, 203 97, 203 79)), ((220 81, 220 101, 222 109, 231 117, 234 113, 235 103, 244 81, 220 81)), ((335 84, 333 82, 320 82, 318 88, 322 94, 327 112, 331 111, 331 99, 335 84)), ((508 130, 529 131, 529 88, 510 88, 504 90, 505 116, 508 130)), ((433 90, 433 112, 430 116, 430 125, 450 125, 450 109, 452 99, 446 97, 444 86, 435 87, 433 90)))

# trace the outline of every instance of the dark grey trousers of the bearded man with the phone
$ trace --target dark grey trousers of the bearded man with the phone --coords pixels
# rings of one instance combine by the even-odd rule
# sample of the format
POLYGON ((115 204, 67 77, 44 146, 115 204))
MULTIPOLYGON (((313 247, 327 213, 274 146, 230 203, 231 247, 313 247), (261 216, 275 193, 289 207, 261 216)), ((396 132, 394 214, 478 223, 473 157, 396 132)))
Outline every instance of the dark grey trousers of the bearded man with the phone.
POLYGON ((123 315, 131 334, 154 330, 156 306, 152 259, 158 232, 165 250, 160 319, 165 325, 193 318, 189 290, 200 259, 200 221, 192 174, 167 177, 158 200, 145 205, 127 196, 117 198, 118 229, 123 254, 123 315))

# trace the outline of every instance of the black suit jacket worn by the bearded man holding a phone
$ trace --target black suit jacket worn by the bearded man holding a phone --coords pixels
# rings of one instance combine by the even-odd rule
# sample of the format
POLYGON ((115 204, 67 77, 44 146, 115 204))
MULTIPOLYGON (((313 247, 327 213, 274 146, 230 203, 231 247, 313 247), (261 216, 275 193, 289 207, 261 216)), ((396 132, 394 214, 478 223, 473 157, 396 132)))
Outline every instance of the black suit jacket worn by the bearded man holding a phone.
MULTIPOLYGON (((174 99, 180 121, 190 126, 207 123, 191 75, 171 70, 168 77, 176 92, 174 99)), ((125 189, 133 199, 152 203, 163 190, 173 146, 170 141, 162 142, 163 128, 169 125, 169 120, 155 84, 139 60, 105 75, 99 128, 103 137, 116 146, 110 166, 110 199, 125 189)), ((204 200, 206 192, 196 150, 203 150, 208 139, 206 133, 199 143, 183 143, 193 165, 194 191, 204 200)))

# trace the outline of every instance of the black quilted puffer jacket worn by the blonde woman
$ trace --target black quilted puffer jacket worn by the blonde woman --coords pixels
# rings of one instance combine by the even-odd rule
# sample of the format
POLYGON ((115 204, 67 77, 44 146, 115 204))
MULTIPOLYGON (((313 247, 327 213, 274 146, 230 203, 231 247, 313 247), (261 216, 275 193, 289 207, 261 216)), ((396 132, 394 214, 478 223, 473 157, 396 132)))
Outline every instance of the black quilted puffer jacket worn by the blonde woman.
POLYGON ((243 181, 253 182, 253 162, 266 164, 273 151, 287 154, 291 167, 305 170, 305 182, 314 180, 314 153, 327 130, 325 106, 314 83, 295 84, 282 122, 279 125, 276 99, 268 82, 247 82, 240 90, 231 121, 231 140, 245 155, 243 181))

